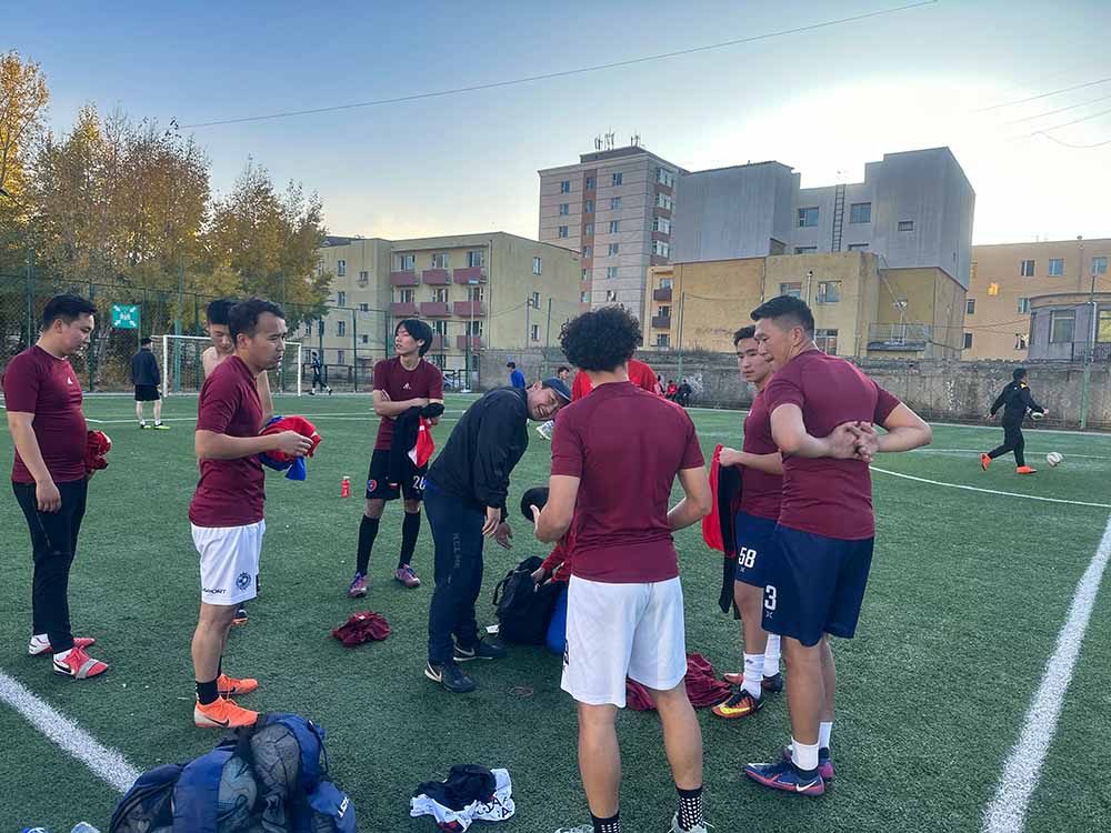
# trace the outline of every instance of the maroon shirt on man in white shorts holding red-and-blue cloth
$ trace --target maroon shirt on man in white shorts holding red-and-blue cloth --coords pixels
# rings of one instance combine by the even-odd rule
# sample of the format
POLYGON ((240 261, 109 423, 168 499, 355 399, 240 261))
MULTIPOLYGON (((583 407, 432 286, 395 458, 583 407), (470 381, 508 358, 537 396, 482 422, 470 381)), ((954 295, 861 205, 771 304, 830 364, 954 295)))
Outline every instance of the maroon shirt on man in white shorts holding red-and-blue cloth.
MULTIPOLYGON (((262 403, 254 374, 238 355, 220 362, 204 380, 197 403, 197 430, 228 436, 258 436, 262 403)), ((266 474, 258 456, 201 460, 201 479, 189 504, 198 526, 246 526, 262 520, 266 474)))

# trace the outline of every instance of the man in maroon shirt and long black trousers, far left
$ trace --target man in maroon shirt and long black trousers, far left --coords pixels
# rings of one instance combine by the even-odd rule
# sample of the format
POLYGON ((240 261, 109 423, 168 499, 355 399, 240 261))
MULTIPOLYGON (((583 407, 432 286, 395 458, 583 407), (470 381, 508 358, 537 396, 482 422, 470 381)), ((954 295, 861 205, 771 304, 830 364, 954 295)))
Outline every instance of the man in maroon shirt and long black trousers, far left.
POLYGON ((42 311, 39 340, 3 374, 8 430, 16 443, 11 488, 31 533, 31 656, 52 653, 54 672, 76 680, 108 665, 86 649, 91 638, 70 632, 69 573, 84 516, 88 431, 81 384, 69 357, 89 343, 97 308, 79 295, 57 295, 42 311))

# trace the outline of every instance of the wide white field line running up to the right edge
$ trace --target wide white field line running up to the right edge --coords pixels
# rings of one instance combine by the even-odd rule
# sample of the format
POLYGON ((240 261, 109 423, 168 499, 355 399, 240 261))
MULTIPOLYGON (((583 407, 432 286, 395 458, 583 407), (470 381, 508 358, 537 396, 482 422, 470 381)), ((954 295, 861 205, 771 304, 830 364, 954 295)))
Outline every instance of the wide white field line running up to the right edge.
POLYGON ((1057 649, 1045 664, 1042 684, 1034 694, 1022 725, 1022 734, 1011 750, 1003 767, 995 796, 984 809, 983 833, 1019 833, 1025 822, 1027 807, 1041 775, 1045 753, 1057 732, 1064 694, 1084 641, 1100 581, 1111 558, 1111 519, 1088 570, 1072 596, 1069 618, 1057 636, 1057 649))

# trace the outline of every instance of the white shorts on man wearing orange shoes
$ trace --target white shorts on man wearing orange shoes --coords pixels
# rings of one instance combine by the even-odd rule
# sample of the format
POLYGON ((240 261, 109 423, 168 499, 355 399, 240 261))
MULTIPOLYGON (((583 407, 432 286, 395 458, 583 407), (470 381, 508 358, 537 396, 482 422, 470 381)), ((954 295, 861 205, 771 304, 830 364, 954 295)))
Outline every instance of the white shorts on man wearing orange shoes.
POLYGON ((193 528, 193 545, 201 556, 201 601, 240 604, 258 593, 259 555, 267 522, 246 526, 193 528))

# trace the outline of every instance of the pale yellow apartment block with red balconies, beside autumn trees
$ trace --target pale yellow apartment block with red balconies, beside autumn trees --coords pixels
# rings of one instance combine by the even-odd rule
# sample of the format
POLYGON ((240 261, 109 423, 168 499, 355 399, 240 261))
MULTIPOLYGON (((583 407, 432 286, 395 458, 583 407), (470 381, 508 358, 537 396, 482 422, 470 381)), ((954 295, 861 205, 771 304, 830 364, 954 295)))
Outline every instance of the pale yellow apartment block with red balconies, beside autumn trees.
POLYGON ((477 368, 479 350, 556 343, 580 308, 578 252, 501 231, 330 237, 319 255, 319 269, 336 275, 329 311, 297 338, 323 351, 332 381, 369 383, 374 362, 392 354, 393 327, 403 318, 432 327, 427 358, 454 378, 477 368))

